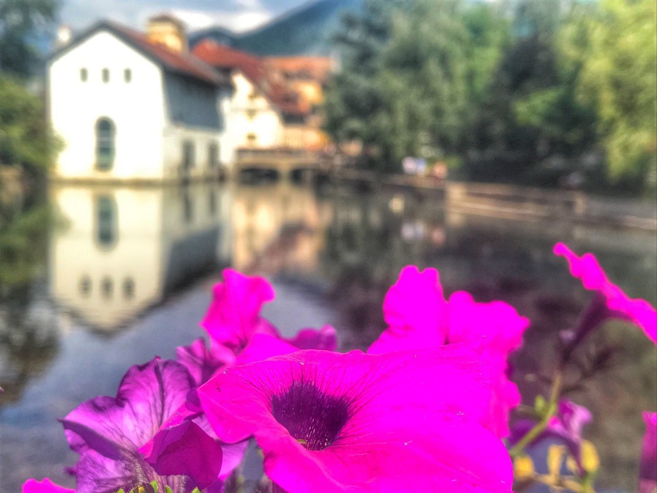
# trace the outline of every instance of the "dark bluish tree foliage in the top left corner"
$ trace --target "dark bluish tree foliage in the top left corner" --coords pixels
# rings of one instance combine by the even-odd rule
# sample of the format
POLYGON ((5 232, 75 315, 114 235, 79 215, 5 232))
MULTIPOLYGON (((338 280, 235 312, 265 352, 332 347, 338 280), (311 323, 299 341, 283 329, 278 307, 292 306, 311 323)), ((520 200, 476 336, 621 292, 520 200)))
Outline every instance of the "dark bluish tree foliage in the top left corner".
POLYGON ((0 72, 28 77, 39 54, 33 43, 55 20, 58 0, 0 0, 0 72))

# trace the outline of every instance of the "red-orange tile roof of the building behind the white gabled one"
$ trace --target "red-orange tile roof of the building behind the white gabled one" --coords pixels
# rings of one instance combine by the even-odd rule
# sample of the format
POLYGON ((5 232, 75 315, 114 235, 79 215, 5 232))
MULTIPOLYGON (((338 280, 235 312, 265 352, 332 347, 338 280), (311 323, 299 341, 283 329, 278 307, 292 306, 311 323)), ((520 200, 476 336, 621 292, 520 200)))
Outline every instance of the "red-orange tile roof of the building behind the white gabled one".
POLYGON ((267 72, 263 59, 219 45, 210 39, 198 43, 193 49, 193 54, 216 68, 240 70, 284 114, 295 116, 309 114, 310 108, 300 101, 299 95, 267 72))

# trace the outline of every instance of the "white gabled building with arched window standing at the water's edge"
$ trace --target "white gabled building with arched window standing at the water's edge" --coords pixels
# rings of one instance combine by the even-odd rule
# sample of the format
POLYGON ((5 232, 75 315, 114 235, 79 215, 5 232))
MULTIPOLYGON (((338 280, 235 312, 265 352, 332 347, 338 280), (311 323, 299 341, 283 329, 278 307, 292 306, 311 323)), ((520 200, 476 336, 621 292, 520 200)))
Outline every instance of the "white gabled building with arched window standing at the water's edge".
POLYGON ((233 162, 230 80, 187 52, 174 18, 147 34, 100 22, 48 63, 49 117, 64 141, 55 179, 178 181, 233 162))

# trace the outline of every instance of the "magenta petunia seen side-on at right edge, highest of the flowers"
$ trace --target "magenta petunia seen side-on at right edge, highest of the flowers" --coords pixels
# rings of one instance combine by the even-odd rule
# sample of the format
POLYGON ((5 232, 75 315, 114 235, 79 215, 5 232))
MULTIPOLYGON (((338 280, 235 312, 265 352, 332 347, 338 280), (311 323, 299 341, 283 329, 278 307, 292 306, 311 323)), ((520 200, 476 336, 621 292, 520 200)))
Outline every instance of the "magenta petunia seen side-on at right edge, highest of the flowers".
MULTIPOLYGON (((596 291, 604 300, 604 312, 592 318, 596 325, 607 318, 620 318, 638 325, 648 339, 657 344, 657 310, 646 300, 632 299, 605 275, 597 259, 591 253, 578 257, 564 243, 557 243, 555 255, 568 260, 570 273, 581 280, 585 289, 596 291)), ((583 327, 583 330, 595 327, 583 327)))

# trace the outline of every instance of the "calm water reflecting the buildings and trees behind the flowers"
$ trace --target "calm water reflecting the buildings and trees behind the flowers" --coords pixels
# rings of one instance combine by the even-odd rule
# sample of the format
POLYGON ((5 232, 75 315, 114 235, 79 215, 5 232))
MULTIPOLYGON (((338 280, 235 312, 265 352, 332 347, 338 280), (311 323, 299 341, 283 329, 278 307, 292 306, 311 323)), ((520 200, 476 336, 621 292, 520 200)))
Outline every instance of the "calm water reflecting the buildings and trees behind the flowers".
MULTIPOLYGON (((0 304, 0 488, 28 477, 72 485, 56 418, 114 395, 126 369, 202 335, 222 266, 267 275, 269 317, 291 335, 333 324, 342 350, 382 329, 381 303, 406 264, 440 270, 446 293, 503 299, 532 318, 514 379, 527 403, 545 390, 558 330, 589 299, 551 254, 557 240, 593 251, 632 296, 657 300, 654 233, 520 222, 444 210, 413 193, 321 193, 290 183, 177 187, 57 186, 58 220, 28 293, 0 304)), ((571 398, 591 408, 603 489, 635 488, 642 410, 657 408, 657 352, 637 330, 610 325, 589 341, 613 365, 571 398), (604 337, 603 337, 604 336, 604 337)), ((574 379, 576 375, 571 375, 574 379)))

